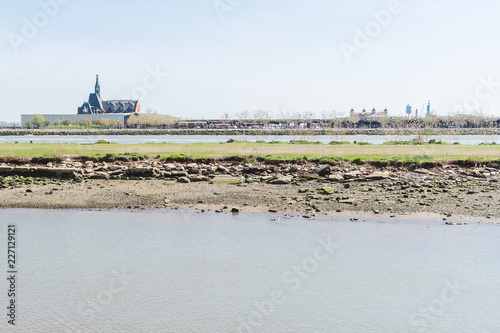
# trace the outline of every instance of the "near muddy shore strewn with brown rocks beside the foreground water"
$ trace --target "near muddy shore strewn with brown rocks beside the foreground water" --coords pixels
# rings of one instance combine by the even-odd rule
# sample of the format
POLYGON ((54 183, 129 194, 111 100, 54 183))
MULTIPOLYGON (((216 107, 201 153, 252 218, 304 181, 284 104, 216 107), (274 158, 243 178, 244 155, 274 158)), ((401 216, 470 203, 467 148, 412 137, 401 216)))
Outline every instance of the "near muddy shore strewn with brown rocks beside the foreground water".
POLYGON ((500 217, 500 162, 0 159, 0 206, 500 217))

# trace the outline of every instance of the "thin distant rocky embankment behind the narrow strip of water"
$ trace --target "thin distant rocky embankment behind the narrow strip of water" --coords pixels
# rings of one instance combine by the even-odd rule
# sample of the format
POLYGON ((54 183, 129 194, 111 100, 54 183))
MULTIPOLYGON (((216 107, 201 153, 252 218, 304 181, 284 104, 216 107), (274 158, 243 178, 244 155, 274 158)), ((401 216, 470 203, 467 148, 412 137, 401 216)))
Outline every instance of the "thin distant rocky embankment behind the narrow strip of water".
POLYGON ((2 129, 24 135, 500 135, 500 128, 319 128, 319 129, 2 129))

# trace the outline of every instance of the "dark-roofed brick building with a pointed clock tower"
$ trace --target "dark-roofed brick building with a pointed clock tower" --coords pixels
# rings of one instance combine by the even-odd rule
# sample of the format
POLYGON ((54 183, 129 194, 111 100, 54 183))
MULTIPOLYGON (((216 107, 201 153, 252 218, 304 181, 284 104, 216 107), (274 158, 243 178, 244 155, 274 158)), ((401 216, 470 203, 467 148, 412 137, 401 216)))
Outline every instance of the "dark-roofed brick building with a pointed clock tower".
POLYGON ((99 84, 99 75, 97 75, 94 93, 89 95, 88 102, 83 103, 78 108, 78 114, 132 114, 140 113, 141 106, 139 100, 109 100, 101 99, 101 85, 99 84))

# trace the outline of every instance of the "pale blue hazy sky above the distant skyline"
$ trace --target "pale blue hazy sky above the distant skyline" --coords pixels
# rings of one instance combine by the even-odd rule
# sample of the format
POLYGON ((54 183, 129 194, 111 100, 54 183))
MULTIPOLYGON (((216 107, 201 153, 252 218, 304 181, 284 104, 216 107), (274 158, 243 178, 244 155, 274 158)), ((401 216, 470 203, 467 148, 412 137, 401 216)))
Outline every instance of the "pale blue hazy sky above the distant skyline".
POLYGON ((500 117, 500 2, 0 0, 0 120, 93 92, 182 119, 351 108, 500 117))

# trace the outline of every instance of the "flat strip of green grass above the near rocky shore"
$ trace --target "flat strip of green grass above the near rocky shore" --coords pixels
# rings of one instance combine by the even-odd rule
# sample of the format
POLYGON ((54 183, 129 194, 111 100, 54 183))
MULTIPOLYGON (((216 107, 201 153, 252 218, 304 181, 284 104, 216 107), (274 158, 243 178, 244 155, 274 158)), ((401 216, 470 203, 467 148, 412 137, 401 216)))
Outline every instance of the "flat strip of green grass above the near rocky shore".
POLYGON ((423 144, 407 145, 311 145, 311 144, 270 144, 235 142, 221 145, 218 143, 194 144, 36 144, 2 143, 0 157, 63 157, 67 155, 88 157, 129 157, 150 158, 212 158, 243 157, 249 160, 266 158, 273 160, 298 161, 315 159, 325 162, 356 160, 366 161, 440 161, 440 160, 499 160, 500 150, 495 145, 465 146, 423 144), (159 156, 159 157, 158 157, 159 156))

